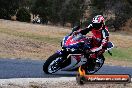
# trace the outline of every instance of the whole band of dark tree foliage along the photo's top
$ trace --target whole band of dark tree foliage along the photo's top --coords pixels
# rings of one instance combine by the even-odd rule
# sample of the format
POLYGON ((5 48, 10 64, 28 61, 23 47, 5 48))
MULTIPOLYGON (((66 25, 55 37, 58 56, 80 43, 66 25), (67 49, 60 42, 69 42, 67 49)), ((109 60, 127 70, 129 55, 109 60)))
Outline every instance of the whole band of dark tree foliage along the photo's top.
POLYGON ((72 26, 79 25, 86 10, 86 2, 90 1, 88 20, 83 23, 87 25, 90 20, 98 14, 105 15, 110 27, 114 25, 119 30, 128 19, 132 18, 131 0, 0 0, 0 18, 10 19, 16 15, 20 8, 26 8, 33 16, 39 15, 42 23, 50 22, 53 25, 72 26), (108 17, 114 15, 114 17, 108 17))

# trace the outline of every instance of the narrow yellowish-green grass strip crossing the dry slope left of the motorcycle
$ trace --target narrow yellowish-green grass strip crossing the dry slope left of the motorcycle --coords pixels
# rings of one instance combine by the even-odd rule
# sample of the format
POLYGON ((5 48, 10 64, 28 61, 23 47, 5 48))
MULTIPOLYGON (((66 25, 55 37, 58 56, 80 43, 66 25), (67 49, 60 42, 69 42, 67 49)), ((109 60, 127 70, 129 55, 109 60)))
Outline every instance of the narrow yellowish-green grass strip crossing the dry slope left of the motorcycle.
POLYGON ((61 37, 52 38, 50 36, 43 36, 43 35, 28 33, 28 32, 19 32, 19 31, 5 29, 5 28, 0 29, 0 33, 5 33, 5 34, 13 35, 16 37, 18 36, 18 37, 29 38, 33 40, 39 40, 39 41, 53 43, 53 44, 59 44, 62 40, 61 37))

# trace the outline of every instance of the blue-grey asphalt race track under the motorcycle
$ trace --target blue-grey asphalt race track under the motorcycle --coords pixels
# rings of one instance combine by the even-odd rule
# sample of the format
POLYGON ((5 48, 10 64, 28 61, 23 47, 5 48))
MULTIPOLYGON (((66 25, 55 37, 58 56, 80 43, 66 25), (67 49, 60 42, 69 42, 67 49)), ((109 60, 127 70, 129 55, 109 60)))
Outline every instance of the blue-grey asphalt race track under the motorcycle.
MULTIPOLYGON (((41 60, 0 59, 0 79, 73 77, 77 73, 59 71, 54 75, 47 75, 43 72, 43 64, 44 61, 41 60)), ((96 74, 130 74, 132 76, 132 67, 104 65, 96 74)))

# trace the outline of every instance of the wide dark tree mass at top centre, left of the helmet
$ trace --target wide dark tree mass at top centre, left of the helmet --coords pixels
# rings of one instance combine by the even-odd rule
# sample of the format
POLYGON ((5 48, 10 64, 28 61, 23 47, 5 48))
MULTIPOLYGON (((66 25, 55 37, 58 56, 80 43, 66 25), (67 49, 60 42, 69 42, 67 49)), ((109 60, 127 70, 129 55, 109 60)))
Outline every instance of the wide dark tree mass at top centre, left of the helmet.
POLYGON ((74 25, 79 22, 82 14, 84 0, 36 0, 32 6, 32 13, 50 21, 53 24, 69 22, 74 25))

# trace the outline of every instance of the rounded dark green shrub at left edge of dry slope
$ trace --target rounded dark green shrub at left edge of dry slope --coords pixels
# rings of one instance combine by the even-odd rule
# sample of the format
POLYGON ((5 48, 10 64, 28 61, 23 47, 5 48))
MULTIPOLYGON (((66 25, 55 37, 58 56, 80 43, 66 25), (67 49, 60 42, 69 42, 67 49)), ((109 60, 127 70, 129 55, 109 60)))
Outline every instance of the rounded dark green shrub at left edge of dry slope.
POLYGON ((30 22, 31 21, 31 15, 26 8, 19 9, 16 14, 16 17, 17 17, 17 20, 21 21, 21 22, 30 22))

